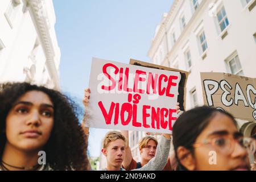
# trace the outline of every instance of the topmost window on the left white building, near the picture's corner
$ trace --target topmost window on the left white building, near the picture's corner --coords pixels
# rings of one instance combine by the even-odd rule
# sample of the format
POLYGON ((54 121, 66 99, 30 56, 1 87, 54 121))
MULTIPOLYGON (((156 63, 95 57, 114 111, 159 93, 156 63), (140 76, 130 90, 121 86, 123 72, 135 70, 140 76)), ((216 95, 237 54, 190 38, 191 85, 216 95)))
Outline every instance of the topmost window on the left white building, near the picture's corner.
POLYGON ((6 10, 5 17, 7 19, 7 22, 10 24, 11 28, 13 28, 13 22, 17 14, 19 4, 20 0, 11 0, 10 5, 6 10))

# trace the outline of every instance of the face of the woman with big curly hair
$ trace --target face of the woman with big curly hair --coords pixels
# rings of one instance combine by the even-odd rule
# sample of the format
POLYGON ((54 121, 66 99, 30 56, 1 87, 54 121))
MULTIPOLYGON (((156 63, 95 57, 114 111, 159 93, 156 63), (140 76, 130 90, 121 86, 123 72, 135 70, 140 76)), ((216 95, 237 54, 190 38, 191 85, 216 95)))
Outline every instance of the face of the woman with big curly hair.
POLYGON ((46 93, 25 93, 6 117, 6 145, 22 151, 42 150, 51 135, 53 114, 53 104, 46 93))

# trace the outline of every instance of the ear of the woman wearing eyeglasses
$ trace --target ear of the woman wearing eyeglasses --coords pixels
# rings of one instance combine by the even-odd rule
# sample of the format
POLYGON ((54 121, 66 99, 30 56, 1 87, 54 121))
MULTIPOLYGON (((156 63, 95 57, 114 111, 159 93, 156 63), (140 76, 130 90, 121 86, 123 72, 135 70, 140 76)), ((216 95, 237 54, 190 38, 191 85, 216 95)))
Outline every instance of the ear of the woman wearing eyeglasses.
POLYGON ((196 170, 196 161, 191 153, 187 148, 180 146, 177 148, 177 158, 180 161, 180 164, 187 168, 189 171, 196 170))

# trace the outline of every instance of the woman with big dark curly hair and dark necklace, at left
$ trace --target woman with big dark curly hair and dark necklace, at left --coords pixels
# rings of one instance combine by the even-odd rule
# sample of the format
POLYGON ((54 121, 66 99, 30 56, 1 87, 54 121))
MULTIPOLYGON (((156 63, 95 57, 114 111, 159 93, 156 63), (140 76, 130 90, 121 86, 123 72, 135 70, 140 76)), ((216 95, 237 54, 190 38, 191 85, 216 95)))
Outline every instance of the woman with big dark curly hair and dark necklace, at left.
POLYGON ((56 90, 0 85, 0 170, 86 170, 89 160, 77 107, 56 90), (39 152, 46 164, 39 164, 39 152))

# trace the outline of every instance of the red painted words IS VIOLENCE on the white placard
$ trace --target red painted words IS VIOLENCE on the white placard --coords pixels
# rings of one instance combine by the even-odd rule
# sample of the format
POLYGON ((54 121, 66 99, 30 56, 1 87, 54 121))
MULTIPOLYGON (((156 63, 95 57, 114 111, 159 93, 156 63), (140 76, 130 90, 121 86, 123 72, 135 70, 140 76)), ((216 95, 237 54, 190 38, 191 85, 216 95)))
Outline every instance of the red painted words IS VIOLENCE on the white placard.
POLYGON ((106 125, 111 125, 114 118, 114 125, 118 124, 119 117, 121 119, 121 125, 126 126, 131 122, 134 127, 144 127, 152 129, 167 129, 172 131, 172 122, 177 118, 172 117, 173 113, 176 113, 176 109, 167 109, 160 107, 152 107, 148 105, 142 106, 142 122, 137 121, 137 104, 141 98, 139 94, 134 95, 133 104, 131 101, 131 94, 128 96, 128 101, 123 104, 112 102, 109 111, 107 111, 102 104, 102 101, 98 102, 98 106, 105 118, 106 125), (114 115, 114 116, 113 116, 114 115), (147 118, 150 118, 150 122, 147 122, 147 118))

